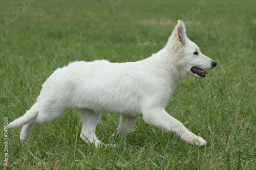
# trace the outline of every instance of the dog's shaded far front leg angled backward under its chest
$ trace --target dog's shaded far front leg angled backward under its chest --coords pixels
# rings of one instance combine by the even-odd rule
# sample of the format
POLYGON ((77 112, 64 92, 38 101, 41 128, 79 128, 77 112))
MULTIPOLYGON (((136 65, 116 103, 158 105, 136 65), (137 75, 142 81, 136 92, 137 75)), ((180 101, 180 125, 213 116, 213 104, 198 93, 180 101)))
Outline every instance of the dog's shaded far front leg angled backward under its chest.
POLYGON ((119 126, 116 129, 116 132, 111 137, 116 137, 117 139, 121 139, 123 130, 125 129, 125 136, 129 135, 132 132, 133 126, 137 120, 137 117, 129 117, 129 116, 120 116, 119 126))

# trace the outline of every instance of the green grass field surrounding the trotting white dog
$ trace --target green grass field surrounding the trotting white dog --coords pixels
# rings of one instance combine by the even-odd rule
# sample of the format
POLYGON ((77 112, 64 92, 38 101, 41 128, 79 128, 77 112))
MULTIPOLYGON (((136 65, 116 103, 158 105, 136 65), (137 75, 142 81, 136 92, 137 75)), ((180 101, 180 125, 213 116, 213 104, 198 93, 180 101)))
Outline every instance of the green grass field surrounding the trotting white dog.
MULTIPOLYGON (((255 169, 255 5, 253 0, 1 0, 0 169, 255 169), (95 149, 80 140, 74 110, 38 126, 27 145, 19 143, 20 129, 4 136, 4 121, 12 122, 33 105, 56 68, 76 60, 150 57, 164 47, 178 19, 218 65, 205 79, 187 76, 166 111, 202 136, 205 148, 140 117, 129 136, 112 141, 117 147, 95 149)), ((108 142, 118 118, 102 115, 96 131, 100 140, 108 142)))

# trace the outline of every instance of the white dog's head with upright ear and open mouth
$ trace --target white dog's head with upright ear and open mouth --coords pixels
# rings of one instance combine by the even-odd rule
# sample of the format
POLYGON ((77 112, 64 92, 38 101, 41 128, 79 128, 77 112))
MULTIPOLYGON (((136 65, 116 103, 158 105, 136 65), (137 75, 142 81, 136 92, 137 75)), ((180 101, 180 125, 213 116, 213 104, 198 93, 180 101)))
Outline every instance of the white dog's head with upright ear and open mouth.
POLYGON ((167 45, 172 48, 172 53, 175 53, 176 64, 179 68, 182 67, 180 70, 186 71, 186 74, 204 78, 206 74, 209 74, 205 70, 217 65, 214 60, 203 55, 199 47, 187 38, 185 25, 180 20, 169 37, 167 45))

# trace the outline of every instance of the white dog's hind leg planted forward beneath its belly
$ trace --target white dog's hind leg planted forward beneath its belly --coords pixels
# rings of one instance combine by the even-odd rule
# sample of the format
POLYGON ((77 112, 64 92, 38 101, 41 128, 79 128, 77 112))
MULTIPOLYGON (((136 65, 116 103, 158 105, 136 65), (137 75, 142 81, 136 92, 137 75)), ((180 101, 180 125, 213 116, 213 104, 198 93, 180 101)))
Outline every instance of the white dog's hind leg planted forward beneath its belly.
POLYGON ((89 109, 79 109, 78 111, 81 113, 83 120, 80 138, 87 143, 94 143, 96 148, 99 145, 107 146, 108 144, 102 143, 95 135, 96 126, 99 123, 101 114, 89 109))

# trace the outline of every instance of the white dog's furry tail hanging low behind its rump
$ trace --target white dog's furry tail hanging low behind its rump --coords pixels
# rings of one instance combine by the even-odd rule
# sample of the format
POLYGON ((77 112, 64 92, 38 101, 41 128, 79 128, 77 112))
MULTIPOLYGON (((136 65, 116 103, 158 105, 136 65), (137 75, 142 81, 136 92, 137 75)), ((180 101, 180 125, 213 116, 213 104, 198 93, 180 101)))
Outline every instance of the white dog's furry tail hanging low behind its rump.
POLYGON ((22 117, 17 118, 8 125, 8 129, 20 128, 32 122, 38 114, 38 103, 36 102, 22 117))

